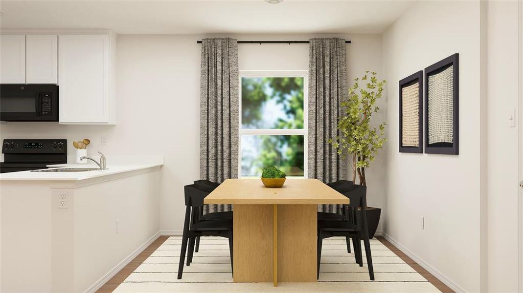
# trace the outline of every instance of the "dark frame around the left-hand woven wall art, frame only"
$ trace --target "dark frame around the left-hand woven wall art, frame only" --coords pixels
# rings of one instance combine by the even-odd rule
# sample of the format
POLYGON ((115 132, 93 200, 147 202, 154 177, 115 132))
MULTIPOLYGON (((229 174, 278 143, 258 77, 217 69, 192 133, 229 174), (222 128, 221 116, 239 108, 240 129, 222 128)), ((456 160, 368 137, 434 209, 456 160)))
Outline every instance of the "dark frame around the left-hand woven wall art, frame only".
POLYGON ((399 149, 400 153, 423 154, 423 71, 411 74, 399 83, 399 149), (418 84, 418 146, 403 145, 403 88, 418 84))

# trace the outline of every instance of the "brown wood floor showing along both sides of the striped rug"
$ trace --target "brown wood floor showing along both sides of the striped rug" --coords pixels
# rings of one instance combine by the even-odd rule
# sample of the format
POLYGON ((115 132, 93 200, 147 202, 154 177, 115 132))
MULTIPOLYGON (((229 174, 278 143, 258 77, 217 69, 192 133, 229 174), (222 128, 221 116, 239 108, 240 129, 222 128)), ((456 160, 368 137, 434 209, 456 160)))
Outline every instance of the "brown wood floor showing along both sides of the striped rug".
MULTIPOLYGON (((98 289, 98 293, 108 293, 112 292, 113 290, 120 285, 123 280, 125 280, 139 265, 141 265, 147 257, 149 257, 162 243, 167 240, 169 236, 160 236, 158 237, 149 247, 147 247, 142 253, 140 253, 137 257, 135 257, 127 266, 125 266, 118 274, 116 274, 114 277, 112 277, 104 286, 102 286, 100 289, 98 289)), ((443 284, 440 280, 438 280, 435 276, 430 274, 426 269, 424 269, 422 266, 417 264, 415 261, 413 261, 410 257, 408 257, 406 254, 404 254, 402 251, 397 249, 394 245, 392 245, 389 241, 387 241, 383 237, 376 237, 383 245, 385 245, 388 249, 390 249, 392 252, 394 252, 397 256, 399 256, 405 263, 410 265, 417 273, 422 275, 424 278, 426 278, 431 284, 433 284, 436 288, 438 288, 443 293, 451 293, 454 292, 452 289, 447 287, 445 284, 443 284)))

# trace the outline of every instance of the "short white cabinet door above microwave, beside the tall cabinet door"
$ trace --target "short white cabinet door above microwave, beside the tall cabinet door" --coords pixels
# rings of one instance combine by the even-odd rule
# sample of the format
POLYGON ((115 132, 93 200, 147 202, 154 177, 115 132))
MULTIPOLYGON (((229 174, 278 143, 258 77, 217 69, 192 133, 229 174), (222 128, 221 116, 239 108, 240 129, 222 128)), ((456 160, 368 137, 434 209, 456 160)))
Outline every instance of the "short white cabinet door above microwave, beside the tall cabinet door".
POLYGON ((58 83, 58 36, 26 36, 26 80, 28 84, 58 83))

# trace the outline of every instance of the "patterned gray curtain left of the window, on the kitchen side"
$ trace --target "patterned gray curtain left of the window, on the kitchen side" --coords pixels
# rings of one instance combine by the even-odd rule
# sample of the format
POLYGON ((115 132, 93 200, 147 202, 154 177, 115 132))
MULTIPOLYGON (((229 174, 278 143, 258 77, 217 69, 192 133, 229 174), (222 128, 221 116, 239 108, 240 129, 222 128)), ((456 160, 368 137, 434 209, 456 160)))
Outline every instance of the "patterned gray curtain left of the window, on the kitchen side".
MULTIPOLYGON (((221 183, 238 177, 238 45, 203 39, 200 73, 200 179, 221 183)), ((204 213, 232 210, 209 205, 204 213)))

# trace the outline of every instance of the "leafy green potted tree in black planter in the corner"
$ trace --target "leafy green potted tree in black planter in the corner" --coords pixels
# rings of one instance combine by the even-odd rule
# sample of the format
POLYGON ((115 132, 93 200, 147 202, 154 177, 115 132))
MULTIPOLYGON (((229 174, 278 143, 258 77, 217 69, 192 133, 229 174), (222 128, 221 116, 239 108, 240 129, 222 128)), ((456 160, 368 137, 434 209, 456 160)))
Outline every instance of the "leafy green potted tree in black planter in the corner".
MULTIPOLYGON (((347 98, 340 103, 342 114, 338 119, 339 136, 329 139, 339 155, 349 158, 353 168, 353 182, 356 182, 358 175, 359 184, 363 186, 367 186, 365 170, 370 167, 374 156, 386 141, 386 123, 383 122, 378 127, 370 125, 372 113, 380 110, 375 104, 382 97, 385 83, 386 80, 377 79, 376 72, 366 71, 361 78, 355 78, 347 98), (364 84, 361 87, 360 82, 364 84)), ((372 238, 378 228, 381 209, 367 207, 366 213, 369 237, 372 238)))

